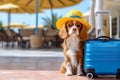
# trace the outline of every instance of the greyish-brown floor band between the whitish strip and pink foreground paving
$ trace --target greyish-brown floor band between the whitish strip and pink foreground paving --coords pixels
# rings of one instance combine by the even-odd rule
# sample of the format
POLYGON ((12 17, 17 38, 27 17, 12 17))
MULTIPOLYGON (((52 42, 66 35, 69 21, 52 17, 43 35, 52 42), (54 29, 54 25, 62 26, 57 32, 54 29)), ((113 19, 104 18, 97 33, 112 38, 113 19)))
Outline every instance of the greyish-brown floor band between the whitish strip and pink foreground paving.
POLYGON ((59 70, 62 57, 0 57, 0 69, 59 70))

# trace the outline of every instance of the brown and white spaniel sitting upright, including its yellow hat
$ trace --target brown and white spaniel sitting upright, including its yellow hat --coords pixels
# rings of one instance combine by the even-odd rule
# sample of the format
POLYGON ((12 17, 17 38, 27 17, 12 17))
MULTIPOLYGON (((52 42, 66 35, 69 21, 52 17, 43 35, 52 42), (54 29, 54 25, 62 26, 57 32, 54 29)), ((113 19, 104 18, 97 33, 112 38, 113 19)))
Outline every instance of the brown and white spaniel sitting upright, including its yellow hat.
POLYGON ((83 74, 83 46, 88 38, 90 25, 79 10, 70 10, 56 22, 59 36, 64 40, 62 47, 64 61, 60 72, 67 76, 83 74))

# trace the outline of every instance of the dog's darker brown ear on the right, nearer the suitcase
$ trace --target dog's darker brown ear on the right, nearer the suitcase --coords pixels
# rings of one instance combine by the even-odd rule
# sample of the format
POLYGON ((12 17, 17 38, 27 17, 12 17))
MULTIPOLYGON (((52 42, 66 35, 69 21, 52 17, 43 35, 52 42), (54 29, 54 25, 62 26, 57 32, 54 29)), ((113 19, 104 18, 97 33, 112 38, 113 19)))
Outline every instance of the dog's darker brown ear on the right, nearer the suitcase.
POLYGON ((84 25, 82 25, 82 28, 80 30, 79 38, 81 41, 85 41, 88 39, 87 29, 84 27, 84 25))

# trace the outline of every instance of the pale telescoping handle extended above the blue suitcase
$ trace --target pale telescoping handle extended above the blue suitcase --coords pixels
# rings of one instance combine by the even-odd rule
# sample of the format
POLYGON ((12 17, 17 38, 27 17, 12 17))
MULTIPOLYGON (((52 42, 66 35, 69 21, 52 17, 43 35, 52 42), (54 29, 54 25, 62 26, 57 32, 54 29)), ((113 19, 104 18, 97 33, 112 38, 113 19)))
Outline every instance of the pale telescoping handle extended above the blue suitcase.
MULTIPOLYGON (((108 14, 109 15, 109 33, 110 33, 110 38, 112 38, 112 13, 111 13, 111 11, 110 10, 98 10, 98 11, 96 11, 96 16, 97 16, 97 14, 108 14)), ((97 29, 96 29, 96 37, 98 37, 97 29)))

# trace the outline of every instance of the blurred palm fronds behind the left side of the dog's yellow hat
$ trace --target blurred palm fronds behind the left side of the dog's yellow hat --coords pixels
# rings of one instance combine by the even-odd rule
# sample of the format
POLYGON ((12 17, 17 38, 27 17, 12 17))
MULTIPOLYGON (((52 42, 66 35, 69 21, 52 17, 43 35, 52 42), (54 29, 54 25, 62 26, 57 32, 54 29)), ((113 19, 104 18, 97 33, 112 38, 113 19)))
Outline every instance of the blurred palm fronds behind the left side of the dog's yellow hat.
POLYGON ((51 16, 47 17, 42 17, 44 21, 44 27, 48 29, 56 29, 56 21, 61 18, 57 16, 57 14, 52 15, 53 19, 51 19, 51 16))

